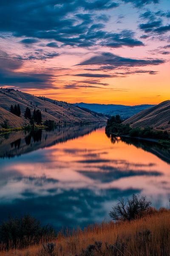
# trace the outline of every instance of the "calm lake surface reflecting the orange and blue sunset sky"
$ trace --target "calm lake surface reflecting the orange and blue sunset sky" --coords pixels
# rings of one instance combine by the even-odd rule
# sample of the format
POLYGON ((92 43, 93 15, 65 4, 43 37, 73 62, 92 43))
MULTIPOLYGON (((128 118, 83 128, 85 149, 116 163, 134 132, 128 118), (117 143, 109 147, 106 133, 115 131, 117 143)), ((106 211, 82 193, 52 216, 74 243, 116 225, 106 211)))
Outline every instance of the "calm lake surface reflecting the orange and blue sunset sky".
POLYGON ((170 198, 170 150, 108 138, 101 125, 0 136, 0 219, 29 212, 42 224, 84 227, 108 220, 121 196, 170 198))

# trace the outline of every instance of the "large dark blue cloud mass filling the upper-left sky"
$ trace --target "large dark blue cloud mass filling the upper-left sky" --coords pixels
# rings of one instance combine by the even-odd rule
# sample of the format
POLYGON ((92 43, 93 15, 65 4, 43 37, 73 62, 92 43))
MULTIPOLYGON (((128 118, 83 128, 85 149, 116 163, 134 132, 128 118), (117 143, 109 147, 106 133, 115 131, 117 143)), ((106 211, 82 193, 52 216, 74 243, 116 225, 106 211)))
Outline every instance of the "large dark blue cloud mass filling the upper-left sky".
MULTIPOLYGON (((104 30, 109 15, 96 11, 113 9, 119 6, 112 0, 3 0, 0 8, 0 31, 11 32, 16 37, 30 37, 22 43, 31 44, 31 40, 51 39, 64 45, 90 47, 96 44, 109 47, 142 46, 127 31, 112 33, 104 30), (10 5, 10 9, 9 9, 10 5), (93 11, 93 12, 92 12, 93 11), (84 13, 88 12, 88 13, 84 13)), ((55 42, 47 44, 56 47, 55 42)))

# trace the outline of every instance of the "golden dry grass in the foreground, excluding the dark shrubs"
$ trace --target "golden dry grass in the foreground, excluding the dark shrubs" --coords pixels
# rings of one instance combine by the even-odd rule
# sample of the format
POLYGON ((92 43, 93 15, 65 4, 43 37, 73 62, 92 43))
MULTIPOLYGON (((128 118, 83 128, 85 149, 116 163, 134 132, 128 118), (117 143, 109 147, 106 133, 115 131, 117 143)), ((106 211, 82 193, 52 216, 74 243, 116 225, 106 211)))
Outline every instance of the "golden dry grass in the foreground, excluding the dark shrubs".
MULTIPOLYGON (((72 236, 58 236, 54 241, 56 244, 55 256, 75 256, 82 252, 95 241, 102 242, 102 253, 95 252, 94 255, 102 256, 169 256, 170 255, 170 210, 160 209, 152 215, 134 221, 124 221, 114 224, 102 223, 93 225, 84 231, 77 231, 72 236), (147 230, 150 231, 147 236, 147 230), (125 243, 125 251, 117 254, 105 251, 105 242, 114 244, 119 237, 125 243)), ((0 252, 0 256, 45 256, 42 254, 42 244, 28 247, 24 250, 9 250, 0 252)), ((82 254, 83 256, 85 254, 82 254)), ((93 254, 86 254, 93 255, 93 254)))

